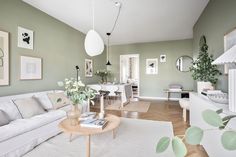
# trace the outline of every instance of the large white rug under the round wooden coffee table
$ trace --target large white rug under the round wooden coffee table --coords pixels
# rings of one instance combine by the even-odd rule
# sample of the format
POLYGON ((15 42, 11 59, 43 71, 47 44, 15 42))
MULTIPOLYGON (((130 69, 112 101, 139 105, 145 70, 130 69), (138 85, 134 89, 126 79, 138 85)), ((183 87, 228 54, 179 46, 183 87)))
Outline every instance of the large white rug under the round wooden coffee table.
MULTIPOLYGON (((171 122, 122 118, 116 138, 112 133, 91 137, 91 157, 174 157, 171 147, 162 154, 155 153, 157 141, 173 136, 171 122)), ((60 134, 24 157, 85 157, 86 138, 78 136, 71 143, 69 135, 60 134)))

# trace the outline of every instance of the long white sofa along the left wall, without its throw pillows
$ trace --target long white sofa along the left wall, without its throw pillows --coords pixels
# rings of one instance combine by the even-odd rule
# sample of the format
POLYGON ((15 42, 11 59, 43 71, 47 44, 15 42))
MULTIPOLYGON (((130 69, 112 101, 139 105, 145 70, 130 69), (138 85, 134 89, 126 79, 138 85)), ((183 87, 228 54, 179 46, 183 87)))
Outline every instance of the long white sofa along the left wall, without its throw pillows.
POLYGON ((5 111, 11 119, 8 125, 0 127, 0 157, 22 156, 35 146, 61 132, 58 124, 66 117, 66 111, 70 110, 70 105, 29 119, 22 119, 12 101, 14 99, 47 95, 47 93, 53 92, 60 91, 44 91, 0 97, 0 109, 5 111))

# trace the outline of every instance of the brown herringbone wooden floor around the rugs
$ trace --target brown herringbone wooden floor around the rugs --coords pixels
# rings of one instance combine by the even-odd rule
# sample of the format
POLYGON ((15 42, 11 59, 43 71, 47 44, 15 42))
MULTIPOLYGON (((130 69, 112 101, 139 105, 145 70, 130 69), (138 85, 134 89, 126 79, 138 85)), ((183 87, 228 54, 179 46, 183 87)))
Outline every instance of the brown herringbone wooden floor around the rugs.
MULTIPOLYGON (((141 100, 142 101, 142 100, 141 100)), ((178 102, 174 101, 153 101, 147 113, 137 112, 124 112, 124 111, 106 111, 106 113, 114 114, 120 117, 157 120, 157 121, 171 121, 174 127, 175 135, 183 135, 188 123, 185 123, 182 118, 182 109, 179 107, 178 102)), ((97 107, 92 108, 92 111, 99 112, 97 107)), ((187 145, 187 157, 208 157, 205 150, 201 146, 187 145)))

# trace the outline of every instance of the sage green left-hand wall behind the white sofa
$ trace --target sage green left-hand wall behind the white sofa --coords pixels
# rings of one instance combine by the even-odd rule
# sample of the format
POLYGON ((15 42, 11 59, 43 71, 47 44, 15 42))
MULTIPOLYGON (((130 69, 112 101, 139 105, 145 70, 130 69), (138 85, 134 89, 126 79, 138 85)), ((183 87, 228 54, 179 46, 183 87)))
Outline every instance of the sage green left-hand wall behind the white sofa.
MULTIPOLYGON (((0 0, 0 30, 10 35, 10 86, 1 86, 0 95, 56 89, 56 82, 75 77, 75 65, 86 83, 96 82, 96 76, 84 78, 85 35, 21 0, 0 0), (34 31, 34 50, 17 47, 17 27, 34 31), (20 56, 41 57, 43 79, 20 81, 20 56)), ((105 53, 94 57, 94 70, 104 69, 105 53)))

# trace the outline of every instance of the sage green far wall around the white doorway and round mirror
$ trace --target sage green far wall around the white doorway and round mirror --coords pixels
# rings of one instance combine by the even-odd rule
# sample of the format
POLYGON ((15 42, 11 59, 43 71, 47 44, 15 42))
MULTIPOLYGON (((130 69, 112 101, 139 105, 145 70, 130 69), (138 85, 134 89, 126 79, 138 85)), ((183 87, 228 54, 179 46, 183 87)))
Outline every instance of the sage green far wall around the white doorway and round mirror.
POLYGON ((166 97, 163 89, 171 83, 179 83, 185 89, 193 88, 193 80, 189 72, 180 72, 176 69, 176 60, 182 55, 192 56, 192 40, 140 43, 128 45, 115 45, 110 49, 112 66, 109 69, 117 80, 120 78, 120 55, 139 54, 140 56, 140 95, 145 97, 166 97), (147 58, 160 58, 166 54, 167 62, 159 62, 158 75, 146 75, 145 66, 147 58))

